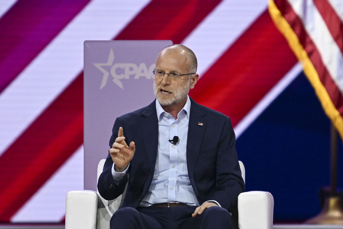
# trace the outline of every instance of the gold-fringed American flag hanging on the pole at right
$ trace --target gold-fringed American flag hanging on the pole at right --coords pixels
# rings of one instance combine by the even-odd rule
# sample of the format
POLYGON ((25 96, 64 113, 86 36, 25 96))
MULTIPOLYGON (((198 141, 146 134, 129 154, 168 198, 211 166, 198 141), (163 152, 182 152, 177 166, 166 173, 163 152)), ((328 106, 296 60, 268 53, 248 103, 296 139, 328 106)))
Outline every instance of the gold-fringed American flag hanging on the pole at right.
POLYGON ((269 0, 269 9, 343 138, 343 2, 269 0))

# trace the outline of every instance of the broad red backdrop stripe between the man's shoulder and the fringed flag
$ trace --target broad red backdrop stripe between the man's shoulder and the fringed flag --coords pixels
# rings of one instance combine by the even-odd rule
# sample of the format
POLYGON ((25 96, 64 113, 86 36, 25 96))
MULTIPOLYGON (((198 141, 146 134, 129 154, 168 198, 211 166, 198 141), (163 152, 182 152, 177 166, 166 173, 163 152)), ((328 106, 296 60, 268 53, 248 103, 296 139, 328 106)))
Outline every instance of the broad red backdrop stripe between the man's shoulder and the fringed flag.
POLYGON ((297 62, 267 10, 204 74, 190 96, 235 126, 297 62))

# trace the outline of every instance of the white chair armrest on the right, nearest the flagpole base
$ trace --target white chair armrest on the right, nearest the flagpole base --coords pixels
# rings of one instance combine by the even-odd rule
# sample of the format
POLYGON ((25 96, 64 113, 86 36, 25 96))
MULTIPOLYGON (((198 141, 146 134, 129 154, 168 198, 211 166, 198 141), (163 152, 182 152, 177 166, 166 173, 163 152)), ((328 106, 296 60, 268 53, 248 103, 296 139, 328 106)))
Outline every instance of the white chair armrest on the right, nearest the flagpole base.
POLYGON ((272 229, 274 198, 269 192, 251 191, 238 196, 239 229, 272 229))

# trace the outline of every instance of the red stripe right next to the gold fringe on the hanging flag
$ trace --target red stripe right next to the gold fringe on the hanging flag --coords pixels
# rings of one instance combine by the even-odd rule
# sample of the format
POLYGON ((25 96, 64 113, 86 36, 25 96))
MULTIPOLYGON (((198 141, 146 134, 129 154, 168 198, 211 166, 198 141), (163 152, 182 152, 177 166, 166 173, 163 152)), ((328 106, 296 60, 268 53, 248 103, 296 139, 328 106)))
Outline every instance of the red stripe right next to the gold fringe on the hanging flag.
POLYGON ((301 45, 305 48, 308 57, 310 58, 312 64, 317 70, 319 79, 324 85, 326 91, 328 92, 330 99, 336 109, 343 115, 343 96, 340 89, 337 87, 336 83, 333 81, 330 73, 323 64, 320 53, 313 43, 310 36, 307 34, 303 21, 294 12, 291 5, 288 2, 275 0, 277 8, 280 10, 288 24, 291 25, 293 31, 297 35, 301 45))

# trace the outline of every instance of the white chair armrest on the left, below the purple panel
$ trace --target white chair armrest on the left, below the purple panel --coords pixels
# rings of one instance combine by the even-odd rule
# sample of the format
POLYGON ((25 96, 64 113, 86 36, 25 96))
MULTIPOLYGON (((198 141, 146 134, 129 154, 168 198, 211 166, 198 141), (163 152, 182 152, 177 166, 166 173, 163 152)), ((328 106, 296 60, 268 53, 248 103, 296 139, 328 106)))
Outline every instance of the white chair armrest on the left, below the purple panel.
POLYGON ((98 195, 94 191, 70 191, 66 197, 66 229, 95 229, 98 195))

